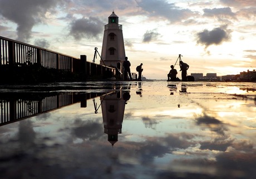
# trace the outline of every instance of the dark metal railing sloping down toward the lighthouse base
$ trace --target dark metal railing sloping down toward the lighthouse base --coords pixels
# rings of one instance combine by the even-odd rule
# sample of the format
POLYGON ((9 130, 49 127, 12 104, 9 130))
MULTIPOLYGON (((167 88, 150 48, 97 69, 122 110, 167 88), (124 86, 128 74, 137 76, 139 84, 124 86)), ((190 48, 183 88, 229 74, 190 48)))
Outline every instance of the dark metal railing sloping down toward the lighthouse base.
POLYGON ((104 74, 104 71, 116 73, 115 68, 87 62, 85 55, 81 55, 79 59, 2 36, 0 36, 0 57, 0 65, 38 63, 46 68, 64 69, 84 73, 86 76, 99 76, 104 74))

